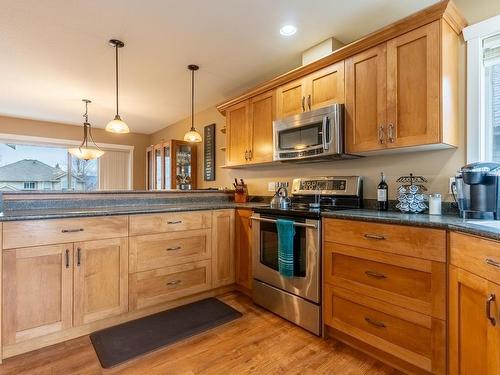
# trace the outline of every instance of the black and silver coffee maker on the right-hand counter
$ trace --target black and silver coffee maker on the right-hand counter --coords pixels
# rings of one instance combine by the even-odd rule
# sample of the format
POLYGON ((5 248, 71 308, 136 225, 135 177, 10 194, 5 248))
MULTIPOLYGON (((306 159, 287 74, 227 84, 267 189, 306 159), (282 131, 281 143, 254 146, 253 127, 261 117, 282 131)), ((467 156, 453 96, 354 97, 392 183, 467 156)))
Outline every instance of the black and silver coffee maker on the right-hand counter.
POLYGON ((455 177, 452 192, 464 219, 500 220, 500 164, 463 166, 455 177))

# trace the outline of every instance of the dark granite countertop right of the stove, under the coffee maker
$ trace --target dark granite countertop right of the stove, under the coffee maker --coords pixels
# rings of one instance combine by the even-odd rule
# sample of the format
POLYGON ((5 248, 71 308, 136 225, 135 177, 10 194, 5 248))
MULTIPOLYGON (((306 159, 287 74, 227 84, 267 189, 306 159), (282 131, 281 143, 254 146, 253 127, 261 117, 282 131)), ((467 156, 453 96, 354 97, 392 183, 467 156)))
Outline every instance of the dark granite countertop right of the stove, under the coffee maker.
POLYGON ((496 223, 493 223, 491 220, 466 220, 452 215, 403 214, 395 211, 381 212, 364 209, 324 212, 322 216, 336 219, 447 229, 500 240, 500 221, 498 221, 498 225, 496 226, 496 223))

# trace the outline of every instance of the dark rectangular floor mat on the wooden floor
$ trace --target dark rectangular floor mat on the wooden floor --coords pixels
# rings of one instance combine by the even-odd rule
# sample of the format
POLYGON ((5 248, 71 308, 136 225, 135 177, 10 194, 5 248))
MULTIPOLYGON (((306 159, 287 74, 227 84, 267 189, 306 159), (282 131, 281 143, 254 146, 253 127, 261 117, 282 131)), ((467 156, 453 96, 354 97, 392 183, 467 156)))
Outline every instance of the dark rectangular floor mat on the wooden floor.
POLYGON ((208 298, 94 332, 90 340, 102 367, 109 368, 241 316, 208 298))

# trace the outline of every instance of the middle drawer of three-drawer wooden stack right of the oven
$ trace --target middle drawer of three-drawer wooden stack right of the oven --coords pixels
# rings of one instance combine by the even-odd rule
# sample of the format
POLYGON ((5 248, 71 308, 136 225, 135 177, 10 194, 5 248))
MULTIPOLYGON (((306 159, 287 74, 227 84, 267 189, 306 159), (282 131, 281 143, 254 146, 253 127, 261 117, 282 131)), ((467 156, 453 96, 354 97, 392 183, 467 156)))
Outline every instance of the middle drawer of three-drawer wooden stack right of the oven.
POLYGON ((446 265, 325 243, 325 281, 436 318, 446 318, 446 265))

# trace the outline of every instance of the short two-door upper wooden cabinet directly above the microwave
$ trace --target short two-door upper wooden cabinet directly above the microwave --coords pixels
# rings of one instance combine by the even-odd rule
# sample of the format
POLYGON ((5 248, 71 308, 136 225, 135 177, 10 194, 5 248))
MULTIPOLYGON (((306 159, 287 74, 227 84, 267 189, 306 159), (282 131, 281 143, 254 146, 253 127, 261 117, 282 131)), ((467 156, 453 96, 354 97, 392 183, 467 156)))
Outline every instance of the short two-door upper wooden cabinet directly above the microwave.
POLYGON ((344 62, 327 66, 276 89, 277 118, 344 103, 344 62))

